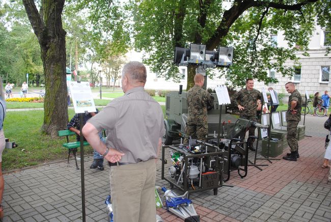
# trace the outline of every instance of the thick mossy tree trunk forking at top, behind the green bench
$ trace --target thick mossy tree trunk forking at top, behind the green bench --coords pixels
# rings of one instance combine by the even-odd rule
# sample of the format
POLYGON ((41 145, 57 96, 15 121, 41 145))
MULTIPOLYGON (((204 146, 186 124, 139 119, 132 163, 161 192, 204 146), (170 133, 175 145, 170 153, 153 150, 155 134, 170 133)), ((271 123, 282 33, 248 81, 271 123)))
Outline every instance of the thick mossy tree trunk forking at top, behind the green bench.
POLYGON ((43 0, 40 13, 33 0, 22 2, 41 48, 46 92, 41 130, 57 136, 68 123, 66 32, 61 17, 65 0, 43 0))

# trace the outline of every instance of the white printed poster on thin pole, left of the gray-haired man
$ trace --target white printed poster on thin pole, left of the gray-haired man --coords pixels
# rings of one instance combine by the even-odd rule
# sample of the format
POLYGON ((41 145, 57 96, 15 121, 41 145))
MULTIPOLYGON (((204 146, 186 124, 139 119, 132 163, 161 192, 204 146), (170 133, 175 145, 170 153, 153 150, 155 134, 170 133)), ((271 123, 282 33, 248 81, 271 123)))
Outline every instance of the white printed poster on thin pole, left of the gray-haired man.
POLYGON ((68 81, 76 114, 96 112, 90 84, 87 81, 68 81))

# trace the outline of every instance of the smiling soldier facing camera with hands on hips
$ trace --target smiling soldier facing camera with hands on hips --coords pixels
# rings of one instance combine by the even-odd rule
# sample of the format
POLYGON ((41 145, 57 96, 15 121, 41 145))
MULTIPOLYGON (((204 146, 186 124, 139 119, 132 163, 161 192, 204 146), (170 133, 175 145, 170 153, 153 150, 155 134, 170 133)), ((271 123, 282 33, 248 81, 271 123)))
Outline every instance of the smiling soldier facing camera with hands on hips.
MULTIPOLYGON (((240 110, 240 118, 257 121, 257 111, 261 110, 261 93, 253 89, 254 80, 246 79, 246 88, 231 96, 231 103, 235 104, 240 110)), ((249 128, 249 136, 255 135, 255 128, 249 128)), ((248 144, 250 150, 255 151, 253 147, 254 140, 248 144)))

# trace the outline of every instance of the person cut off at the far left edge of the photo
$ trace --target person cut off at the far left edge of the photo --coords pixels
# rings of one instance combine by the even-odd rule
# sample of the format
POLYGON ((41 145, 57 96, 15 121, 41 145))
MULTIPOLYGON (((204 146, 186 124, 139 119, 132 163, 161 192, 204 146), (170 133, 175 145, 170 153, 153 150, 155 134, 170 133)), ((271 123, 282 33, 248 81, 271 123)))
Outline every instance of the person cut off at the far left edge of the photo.
MULTIPOLYGON (((0 82, 2 79, 0 77, 0 82)), ((0 218, 4 217, 4 208, 2 206, 3 193, 5 189, 5 181, 2 173, 2 153, 6 147, 6 140, 4 135, 4 120, 6 116, 6 102, 3 86, 0 84, 0 218)))

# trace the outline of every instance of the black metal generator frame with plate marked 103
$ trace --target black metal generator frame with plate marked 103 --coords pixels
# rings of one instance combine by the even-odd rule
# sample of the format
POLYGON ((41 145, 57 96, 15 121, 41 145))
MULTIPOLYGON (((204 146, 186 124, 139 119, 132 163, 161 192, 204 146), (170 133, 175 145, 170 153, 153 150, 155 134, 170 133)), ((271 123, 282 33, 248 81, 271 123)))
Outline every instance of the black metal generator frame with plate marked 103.
POLYGON ((169 182, 169 185, 171 186, 171 188, 173 188, 174 186, 177 187, 178 189, 182 190, 183 192, 188 192, 188 193, 194 193, 194 192, 200 192, 200 191, 204 191, 204 190, 210 190, 213 189, 214 195, 217 195, 217 188, 218 187, 222 187, 223 186, 223 164, 224 164, 224 155, 225 152, 224 151, 217 151, 218 147, 208 144, 208 143, 204 143, 206 145, 206 149, 208 151, 208 148, 211 149, 215 149, 216 152, 209 152, 209 153, 201 153, 201 154, 194 154, 191 152, 188 152, 182 148, 178 148, 176 147, 176 145, 170 145, 170 146, 162 146, 162 168, 161 168, 161 179, 162 180, 166 180, 169 182), (213 184, 210 185, 208 187, 202 187, 201 185, 201 180, 202 180, 202 165, 200 165, 200 183, 199 186, 195 187, 195 189, 192 189, 191 187, 188 187, 188 164, 185 165, 184 171, 183 171, 183 184, 177 184, 176 181, 174 179, 170 179, 170 176, 167 177, 164 175, 164 165, 167 164, 167 160, 165 159, 164 153, 166 151, 166 149, 172 149, 176 152, 180 152, 184 155, 184 162, 188 163, 189 159, 192 158, 203 158, 203 157, 207 157, 207 156, 213 156, 213 157, 217 157, 218 160, 218 168, 216 169, 216 174, 218 174, 218 181, 217 184, 213 184))

